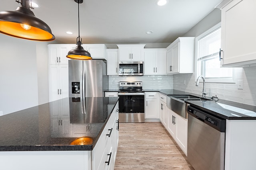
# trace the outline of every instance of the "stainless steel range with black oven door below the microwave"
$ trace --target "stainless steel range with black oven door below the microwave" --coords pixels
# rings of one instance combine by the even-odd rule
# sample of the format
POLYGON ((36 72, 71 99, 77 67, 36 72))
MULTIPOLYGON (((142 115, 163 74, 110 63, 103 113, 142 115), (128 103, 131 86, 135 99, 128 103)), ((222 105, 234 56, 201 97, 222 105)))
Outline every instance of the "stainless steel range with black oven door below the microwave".
POLYGON ((119 122, 145 122, 145 92, 142 82, 119 82, 119 122))

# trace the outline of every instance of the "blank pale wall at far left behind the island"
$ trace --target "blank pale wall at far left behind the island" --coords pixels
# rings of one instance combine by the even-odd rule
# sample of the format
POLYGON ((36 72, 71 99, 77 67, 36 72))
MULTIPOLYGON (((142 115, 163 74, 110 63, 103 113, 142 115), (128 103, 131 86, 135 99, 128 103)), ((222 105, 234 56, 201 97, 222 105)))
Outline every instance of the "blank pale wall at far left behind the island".
MULTIPOLYGON (((48 79, 48 67, 45 67, 43 59, 46 57, 47 61, 47 45, 43 43, 46 45, 44 49, 40 43, 0 34, 0 111, 3 114, 37 106, 38 90, 43 84, 47 84, 48 88, 48 82, 44 82, 46 74, 48 79), (39 62, 43 63, 43 68, 37 68, 37 58, 41 59, 39 62), (44 75, 43 78, 40 78, 41 75, 44 75)), ((46 101, 48 90, 45 93, 40 94, 44 96, 40 103, 46 101)))

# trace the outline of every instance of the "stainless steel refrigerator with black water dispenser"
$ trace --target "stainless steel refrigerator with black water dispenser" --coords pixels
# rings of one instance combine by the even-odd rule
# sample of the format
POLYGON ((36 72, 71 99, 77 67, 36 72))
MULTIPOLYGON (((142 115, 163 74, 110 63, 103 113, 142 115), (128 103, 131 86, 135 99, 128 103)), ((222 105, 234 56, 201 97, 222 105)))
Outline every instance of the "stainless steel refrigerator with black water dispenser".
POLYGON ((106 61, 69 60, 69 97, 104 97, 108 90, 106 61))

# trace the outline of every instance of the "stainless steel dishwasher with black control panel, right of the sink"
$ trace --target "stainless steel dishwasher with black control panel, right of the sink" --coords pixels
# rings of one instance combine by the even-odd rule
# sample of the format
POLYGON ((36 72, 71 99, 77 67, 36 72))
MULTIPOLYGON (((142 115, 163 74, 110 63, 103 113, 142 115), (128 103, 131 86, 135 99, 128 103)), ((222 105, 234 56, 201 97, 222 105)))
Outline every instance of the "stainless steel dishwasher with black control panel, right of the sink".
POLYGON ((195 170, 224 170, 226 119, 188 106, 188 161, 195 170))

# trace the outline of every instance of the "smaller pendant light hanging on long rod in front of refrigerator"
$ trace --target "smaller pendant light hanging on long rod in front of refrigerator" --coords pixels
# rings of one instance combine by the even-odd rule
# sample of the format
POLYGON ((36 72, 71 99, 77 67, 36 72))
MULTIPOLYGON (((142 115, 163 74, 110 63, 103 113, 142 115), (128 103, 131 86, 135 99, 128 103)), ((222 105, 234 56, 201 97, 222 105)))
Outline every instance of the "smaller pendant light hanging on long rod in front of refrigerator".
POLYGON ((76 60, 91 60, 92 57, 90 53, 81 46, 82 45, 82 38, 80 37, 80 24, 79 24, 79 4, 83 3, 83 0, 74 0, 76 3, 78 3, 78 37, 76 38, 76 48, 72 49, 68 52, 68 55, 66 57, 70 59, 76 59, 76 60), (81 41, 80 41, 81 40, 81 41))

